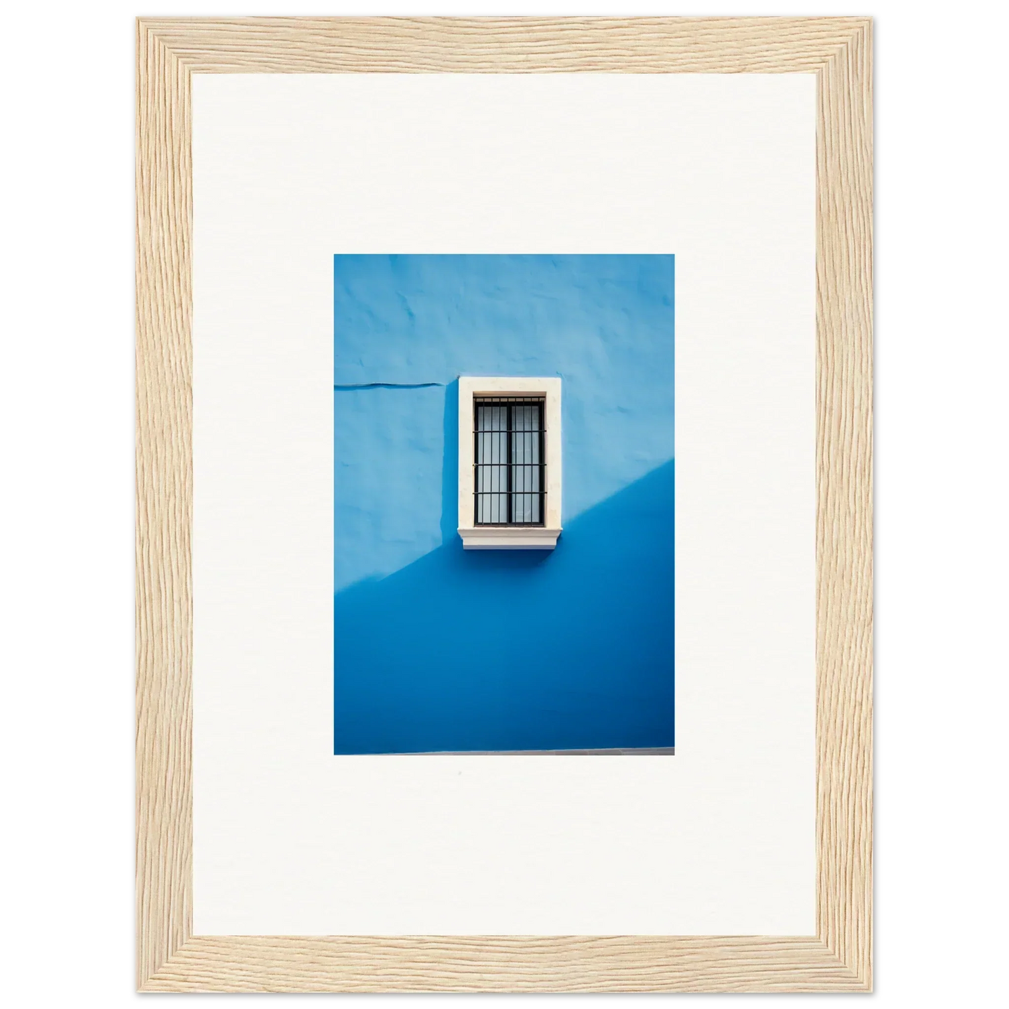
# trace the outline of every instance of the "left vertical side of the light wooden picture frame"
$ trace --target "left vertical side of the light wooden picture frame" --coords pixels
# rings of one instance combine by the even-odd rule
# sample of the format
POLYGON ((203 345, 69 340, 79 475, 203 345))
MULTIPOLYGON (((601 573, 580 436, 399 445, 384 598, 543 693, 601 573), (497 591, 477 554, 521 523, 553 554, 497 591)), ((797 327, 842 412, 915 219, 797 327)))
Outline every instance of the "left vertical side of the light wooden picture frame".
POLYGON ((136 35, 136 971, 192 932, 190 81, 136 35))

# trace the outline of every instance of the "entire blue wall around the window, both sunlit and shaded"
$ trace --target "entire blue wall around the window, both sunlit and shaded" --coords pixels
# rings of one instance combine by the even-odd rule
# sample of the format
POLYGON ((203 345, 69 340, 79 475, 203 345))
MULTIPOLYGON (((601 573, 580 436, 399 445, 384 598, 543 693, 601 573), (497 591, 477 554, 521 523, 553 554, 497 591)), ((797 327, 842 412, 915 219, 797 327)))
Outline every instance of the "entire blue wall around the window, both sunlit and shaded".
POLYGON ((335 752, 672 746, 672 256, 334 281, 335 752), (460 374, 562 377, 556 550, 462 550, 460 374))

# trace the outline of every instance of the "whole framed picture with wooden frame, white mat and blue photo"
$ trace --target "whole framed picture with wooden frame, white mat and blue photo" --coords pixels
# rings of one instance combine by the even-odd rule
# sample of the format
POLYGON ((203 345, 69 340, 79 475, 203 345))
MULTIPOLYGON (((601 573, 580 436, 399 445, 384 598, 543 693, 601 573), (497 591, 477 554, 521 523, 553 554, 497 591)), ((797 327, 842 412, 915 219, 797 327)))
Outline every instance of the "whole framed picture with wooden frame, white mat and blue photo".
POLYGON ((134 1000, 877 998, 878 17, 131 44, 134 1000))

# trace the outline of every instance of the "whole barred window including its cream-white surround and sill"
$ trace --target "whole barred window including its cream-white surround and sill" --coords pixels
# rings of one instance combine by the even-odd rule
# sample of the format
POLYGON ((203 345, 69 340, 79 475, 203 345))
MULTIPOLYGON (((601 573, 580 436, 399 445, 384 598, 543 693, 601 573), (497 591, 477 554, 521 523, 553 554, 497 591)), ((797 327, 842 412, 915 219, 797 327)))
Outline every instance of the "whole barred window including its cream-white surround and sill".
POLYGON ((561 533, 561 379, 459 379, 466 550, 552 550, 561 533))

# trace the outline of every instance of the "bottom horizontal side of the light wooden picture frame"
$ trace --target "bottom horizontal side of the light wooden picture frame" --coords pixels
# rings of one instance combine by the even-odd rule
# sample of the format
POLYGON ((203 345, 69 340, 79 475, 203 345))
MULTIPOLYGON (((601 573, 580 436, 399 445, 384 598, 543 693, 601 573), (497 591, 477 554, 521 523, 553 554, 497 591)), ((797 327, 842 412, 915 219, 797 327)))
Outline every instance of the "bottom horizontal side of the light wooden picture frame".
POLYGON ((809 938, 202 936, 151 977, 159 992, 852 992, 809 938))

